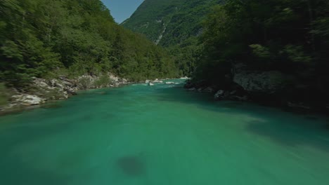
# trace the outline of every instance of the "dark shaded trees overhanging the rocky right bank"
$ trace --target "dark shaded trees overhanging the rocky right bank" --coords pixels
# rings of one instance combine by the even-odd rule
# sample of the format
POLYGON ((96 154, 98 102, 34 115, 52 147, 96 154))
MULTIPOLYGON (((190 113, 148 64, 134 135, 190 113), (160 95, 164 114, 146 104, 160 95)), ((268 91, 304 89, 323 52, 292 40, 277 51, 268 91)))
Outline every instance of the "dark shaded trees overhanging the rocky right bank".
POLYGON ((228 0, 204 21, 194 78, 223 86, 233 65, 243 63, 250 70, 280 71, 286 83, 279 98, 325 104, 328 36, 328 1, 228 0))

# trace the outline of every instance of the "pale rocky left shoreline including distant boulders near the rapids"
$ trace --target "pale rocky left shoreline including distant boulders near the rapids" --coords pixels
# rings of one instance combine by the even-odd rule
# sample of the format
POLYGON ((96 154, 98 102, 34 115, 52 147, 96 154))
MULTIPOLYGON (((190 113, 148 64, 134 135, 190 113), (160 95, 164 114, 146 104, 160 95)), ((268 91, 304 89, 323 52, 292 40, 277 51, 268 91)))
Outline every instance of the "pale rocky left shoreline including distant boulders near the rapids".
MULTIPOLYGON (((68 98, 77 95, 80 90, 91 90, 100 88, 118 88, 122 85, 132 83, 145 83, 154 85, 156 83, 172 84, 172 82, 164 82, 174 78, 155 78, 153 80, 131 82, 126 78, 120 78, 113 74, 103 74, 102 76, 79 76, 75 79, 60 76, 47 80, 44 78, 33 78, 28 89, 25 92, 15 88, 11 90, 0 86, 0 116, 15 112, 24 111, 26 109, 34 109, 46 106, 49 102, 58 100, 67 100, 68 98), (8 93, 11 91, 11 93, 8 93)), ((188 79, 188 77, 181 77, 188 79)))

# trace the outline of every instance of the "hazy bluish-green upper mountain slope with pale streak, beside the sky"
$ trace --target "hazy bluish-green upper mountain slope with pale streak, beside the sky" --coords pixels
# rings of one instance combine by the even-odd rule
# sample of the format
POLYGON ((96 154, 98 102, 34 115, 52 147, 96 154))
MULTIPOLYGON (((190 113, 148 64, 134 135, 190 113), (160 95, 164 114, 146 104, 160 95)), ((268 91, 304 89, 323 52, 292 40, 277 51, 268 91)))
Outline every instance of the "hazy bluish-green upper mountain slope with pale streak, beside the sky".
POLYGON ((174 46, 202 32, 201 22, 220 0, 146 0, 124 27, 161 46, 174 46))

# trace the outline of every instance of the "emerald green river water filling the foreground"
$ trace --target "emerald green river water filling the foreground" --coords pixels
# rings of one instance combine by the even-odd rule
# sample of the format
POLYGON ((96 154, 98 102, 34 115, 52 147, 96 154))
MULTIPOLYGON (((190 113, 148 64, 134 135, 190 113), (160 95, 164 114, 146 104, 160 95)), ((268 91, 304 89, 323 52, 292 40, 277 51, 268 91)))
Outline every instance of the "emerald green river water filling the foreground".
POLYGON ((329 184, 327 118, 181 85, 89 90, 0 118, 0 184, 329 184))

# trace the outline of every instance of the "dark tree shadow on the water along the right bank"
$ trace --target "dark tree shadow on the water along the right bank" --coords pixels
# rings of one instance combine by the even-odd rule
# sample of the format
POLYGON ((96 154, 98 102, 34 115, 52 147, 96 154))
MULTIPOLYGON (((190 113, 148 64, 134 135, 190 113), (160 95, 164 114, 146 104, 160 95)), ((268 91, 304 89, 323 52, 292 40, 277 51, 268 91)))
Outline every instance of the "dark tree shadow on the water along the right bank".
POLYGON ((246 102, 215 102, 209 94, 188 92, 181 87, 158 89, 158 94, 159 101, 194 104, 208 111, 260 118, 261 121, 247 122, 245 130, 282 146, 311 146, 329 152, 329 123, 321 116, 294 114, 246 102))

